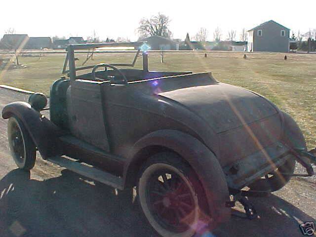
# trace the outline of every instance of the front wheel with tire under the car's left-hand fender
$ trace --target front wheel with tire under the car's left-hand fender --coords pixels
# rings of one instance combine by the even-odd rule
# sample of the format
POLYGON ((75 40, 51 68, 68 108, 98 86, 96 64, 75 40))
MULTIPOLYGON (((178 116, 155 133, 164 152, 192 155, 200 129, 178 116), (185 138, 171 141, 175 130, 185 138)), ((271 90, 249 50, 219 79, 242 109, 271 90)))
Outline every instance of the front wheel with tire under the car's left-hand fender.
POLYGON ((15 117, 9 118, 7 132, 9 149, 16 165, 20 169, 32 169, 36 160, 36 147, 22 121, 15 117))

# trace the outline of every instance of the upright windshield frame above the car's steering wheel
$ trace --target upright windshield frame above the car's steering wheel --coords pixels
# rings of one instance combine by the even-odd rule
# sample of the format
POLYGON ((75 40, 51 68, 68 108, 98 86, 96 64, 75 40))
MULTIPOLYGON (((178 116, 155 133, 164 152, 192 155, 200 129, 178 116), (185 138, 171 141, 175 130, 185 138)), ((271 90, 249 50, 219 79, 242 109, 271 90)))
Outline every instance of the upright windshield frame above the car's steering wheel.
MULTIPOLYGON (((64 67, 62 74, 68 74, 71 80, 75 80, 77 77, 77 71, 80 70, 86 70, 93 68, 95 65, 85 66, 85 67, 79 67, 76 68, 75 64, 75 50, 78 49, 95 49, 95 48, 103 48, 103 47, 138 47, 138 50, 136 51, 135 57, 133 59, 133 62, 131 64, 111 64, 113 66, 120 66, 120 67, 134 67, 137 61, 137 58, 142 51, 142 57, 143 57, 143 71, 148 72, 148 52, 146 50, 142 50, 141 46, 144 45, 145 41, 139 41, 139 42, 113 42, 113 43, 87 43, 87 44, 70 44, 67 46, 67 56, 65 59, 64 67), (69 70, 67 70, 67 65, 69 65, 69 70)), ((98 52, 99 53, 99 52, 98 52)), ((100 52, 102 53, 102 52, 100 52)))

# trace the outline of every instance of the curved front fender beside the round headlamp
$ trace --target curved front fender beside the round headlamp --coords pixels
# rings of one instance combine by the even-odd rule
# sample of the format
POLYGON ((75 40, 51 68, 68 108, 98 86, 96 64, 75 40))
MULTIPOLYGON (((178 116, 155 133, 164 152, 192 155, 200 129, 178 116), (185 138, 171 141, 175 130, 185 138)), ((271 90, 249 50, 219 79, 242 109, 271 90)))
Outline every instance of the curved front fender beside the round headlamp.
POLYGON ((34 110, 26 102, 13 102, 2 110, 2 118, 19 118, 32 137, 42 158, 48 158, 62 154, 57 137, 61 130, 49 119, 34 110))

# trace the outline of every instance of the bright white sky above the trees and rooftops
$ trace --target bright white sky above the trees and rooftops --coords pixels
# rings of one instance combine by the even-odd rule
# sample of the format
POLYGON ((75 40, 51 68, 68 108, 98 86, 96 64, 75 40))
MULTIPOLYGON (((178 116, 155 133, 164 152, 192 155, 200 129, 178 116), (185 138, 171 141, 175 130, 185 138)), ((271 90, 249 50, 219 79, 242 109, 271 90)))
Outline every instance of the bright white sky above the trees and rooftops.
POLYGON ((8 28, 30 37, 93 36, 101 40, 118 37, 137 40, 141 18, 160 12, 171 19, 174 39, 195 36, 200 28, 208 30, 208 40, 219 27, 223 38, 229 30, 249 30, 265 21, 305 33, 316 28, 316 0, 0 0, 0 38, 8 28), (299 9, 299 10, 297 10, 299 9), (306 9, 306 10, 304 10, 306 9), (314 11, 314 12, 313 12, 314 11))

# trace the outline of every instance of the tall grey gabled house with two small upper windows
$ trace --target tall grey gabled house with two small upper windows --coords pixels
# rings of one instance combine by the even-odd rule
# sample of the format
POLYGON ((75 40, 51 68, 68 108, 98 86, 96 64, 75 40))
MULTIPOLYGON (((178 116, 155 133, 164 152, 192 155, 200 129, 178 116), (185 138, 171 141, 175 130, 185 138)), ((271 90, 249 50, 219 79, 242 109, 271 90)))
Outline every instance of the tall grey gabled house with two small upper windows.
POLYGON ((290 29, 270 20, 248 31, 248 52, 288 52, 290 29))

